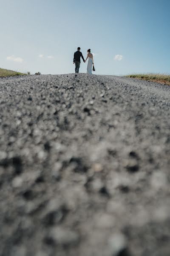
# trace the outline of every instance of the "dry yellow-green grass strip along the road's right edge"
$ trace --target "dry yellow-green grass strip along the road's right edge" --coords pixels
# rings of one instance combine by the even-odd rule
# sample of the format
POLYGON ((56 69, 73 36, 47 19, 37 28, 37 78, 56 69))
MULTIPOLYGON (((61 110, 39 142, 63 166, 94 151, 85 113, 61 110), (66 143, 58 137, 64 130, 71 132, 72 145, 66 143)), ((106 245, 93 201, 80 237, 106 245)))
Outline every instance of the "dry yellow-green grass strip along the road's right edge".
POLYGON ((126 77, 133 77, 136 79, 142 80, 149 80, 161 84, 169 84, 170 85, 170 75, 167 74, 155 74, 155 73, 148 73, 148 74, 131 74, 127 75, 126 77))

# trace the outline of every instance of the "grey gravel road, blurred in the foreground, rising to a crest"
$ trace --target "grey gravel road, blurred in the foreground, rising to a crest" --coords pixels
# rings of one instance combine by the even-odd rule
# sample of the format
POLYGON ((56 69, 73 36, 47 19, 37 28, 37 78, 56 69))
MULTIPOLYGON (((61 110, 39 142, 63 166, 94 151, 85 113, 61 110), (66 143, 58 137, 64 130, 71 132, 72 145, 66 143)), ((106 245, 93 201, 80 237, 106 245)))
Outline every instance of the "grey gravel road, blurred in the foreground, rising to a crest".
POLYGON ((0 256, 170 256, 170 86, 0 79, 0 256))

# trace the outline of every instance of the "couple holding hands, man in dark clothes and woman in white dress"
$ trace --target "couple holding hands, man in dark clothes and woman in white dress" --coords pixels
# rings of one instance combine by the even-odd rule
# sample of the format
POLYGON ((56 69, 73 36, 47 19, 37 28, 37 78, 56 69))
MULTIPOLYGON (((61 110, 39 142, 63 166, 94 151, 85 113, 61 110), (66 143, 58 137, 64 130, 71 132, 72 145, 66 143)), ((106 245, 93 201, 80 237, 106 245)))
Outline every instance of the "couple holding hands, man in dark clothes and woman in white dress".
MULTIPOLYGON (((74 52, 74 59, 73 59, 73 64, 75 63, 75 72, 79 73, 79 67, 80 67, 80 57, 82 57, 84 63, 88 59, 88 66, 87 66, 87 74, 92 75, 92 66, 93 66, 93 54, 91 54, 91 49, 88 49, 88 55, 86 60, 83 58, 82 52, 80 52, 80 47, 77 48, 77 52, 74 52)), ((93 71, 94 67, 93 67, 93 71)))

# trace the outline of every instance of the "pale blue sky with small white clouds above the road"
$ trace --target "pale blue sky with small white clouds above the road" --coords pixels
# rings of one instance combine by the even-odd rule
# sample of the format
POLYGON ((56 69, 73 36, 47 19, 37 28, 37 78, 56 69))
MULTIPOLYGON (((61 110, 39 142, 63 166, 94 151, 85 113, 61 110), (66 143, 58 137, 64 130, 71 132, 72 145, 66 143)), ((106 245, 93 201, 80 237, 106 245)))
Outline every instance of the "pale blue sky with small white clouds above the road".
POLYGON ((96 74, 170 73, 170 0, 0 0, 0 6, 1 68, 74 73, 80 46, 84 58, 88 48, 95 54, 96 74))

